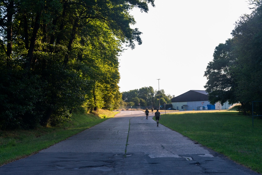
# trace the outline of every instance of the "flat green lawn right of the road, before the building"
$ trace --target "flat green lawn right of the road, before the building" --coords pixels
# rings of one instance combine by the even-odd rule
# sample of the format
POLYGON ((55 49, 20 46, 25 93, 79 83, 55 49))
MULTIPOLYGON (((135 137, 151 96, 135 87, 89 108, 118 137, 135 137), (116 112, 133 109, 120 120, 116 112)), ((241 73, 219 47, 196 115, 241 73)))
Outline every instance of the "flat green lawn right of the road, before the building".
POLYGON ((236 111, 191 111, 162 114, 160 123, 262 173, 262 120, 236 111))

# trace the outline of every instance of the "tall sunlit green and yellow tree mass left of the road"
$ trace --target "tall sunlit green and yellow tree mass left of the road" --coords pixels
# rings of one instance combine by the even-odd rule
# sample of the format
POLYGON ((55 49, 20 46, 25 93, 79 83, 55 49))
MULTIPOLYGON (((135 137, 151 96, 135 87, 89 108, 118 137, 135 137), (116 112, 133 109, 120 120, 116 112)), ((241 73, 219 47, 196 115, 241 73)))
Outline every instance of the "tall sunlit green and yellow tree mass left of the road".
POLYGON ((141 44, 133 8, 154 0, 0 2, 0 129, 57 125, 83 105, 116 109, 122 44, 141 44))

